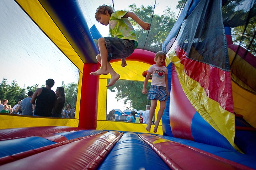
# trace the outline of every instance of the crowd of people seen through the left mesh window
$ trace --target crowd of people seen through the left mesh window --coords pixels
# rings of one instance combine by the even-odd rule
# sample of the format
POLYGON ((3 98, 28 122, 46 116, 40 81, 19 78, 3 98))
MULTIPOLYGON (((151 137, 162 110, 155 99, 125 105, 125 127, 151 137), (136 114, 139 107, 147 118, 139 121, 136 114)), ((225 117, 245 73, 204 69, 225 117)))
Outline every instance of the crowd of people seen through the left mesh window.
POLYGON ((46 80, 46 87, 40 87, 35 92, 28 91, 27 97, 18 100, 13 108, 7 105, 8 100, 0 101, 0 113, 28 115, 35 117, 74 118, 75 107, 67 103, 65 108, 65 91, 57 87, 56 93, 51 89, 53 79, 46 80), (64 109, 63 109, 64 108, 64 109))

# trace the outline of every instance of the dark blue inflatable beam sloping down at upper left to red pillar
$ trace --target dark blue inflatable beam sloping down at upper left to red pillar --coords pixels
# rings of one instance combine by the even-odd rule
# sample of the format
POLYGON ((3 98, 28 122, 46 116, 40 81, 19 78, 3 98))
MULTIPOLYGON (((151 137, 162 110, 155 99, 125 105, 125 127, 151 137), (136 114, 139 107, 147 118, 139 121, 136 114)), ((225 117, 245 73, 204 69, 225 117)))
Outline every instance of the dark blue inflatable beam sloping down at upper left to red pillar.
POLYGON ((97 63, 98 49, 77 0, 39 0, 84 63, 97 63), (57 18, 55 18, 55 16, 57 18), (59 23, 60 22, 60 23, 59 23), (61 28, 60 26, 64 26, 61 28))

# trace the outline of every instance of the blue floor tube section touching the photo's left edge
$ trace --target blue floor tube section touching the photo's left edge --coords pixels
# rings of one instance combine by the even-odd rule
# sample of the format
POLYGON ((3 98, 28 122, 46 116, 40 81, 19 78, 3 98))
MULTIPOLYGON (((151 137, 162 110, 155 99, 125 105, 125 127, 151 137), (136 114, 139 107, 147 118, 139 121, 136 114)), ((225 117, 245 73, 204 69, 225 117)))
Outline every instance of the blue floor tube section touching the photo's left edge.
POLYGON ((49 141, 42 137, 26 137, 20 139, 0 141, 0 158, 52 145, 56 142, 49 141))

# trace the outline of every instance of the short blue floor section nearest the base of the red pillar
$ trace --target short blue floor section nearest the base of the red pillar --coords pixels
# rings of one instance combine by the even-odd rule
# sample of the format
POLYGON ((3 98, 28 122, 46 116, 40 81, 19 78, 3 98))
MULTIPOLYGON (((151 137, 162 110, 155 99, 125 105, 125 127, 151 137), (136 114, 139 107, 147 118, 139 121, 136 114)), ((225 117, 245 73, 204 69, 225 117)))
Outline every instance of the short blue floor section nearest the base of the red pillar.
POLYGON ((58 135, 62 135, 66 137, 68 140, 71 140, 79 137, 94 135, 100 132, 104 132, 104 131, 103 130, 79 130, 79 131, 73 131, 73 132, 63 132, 63 133, 59 133, 58 135))

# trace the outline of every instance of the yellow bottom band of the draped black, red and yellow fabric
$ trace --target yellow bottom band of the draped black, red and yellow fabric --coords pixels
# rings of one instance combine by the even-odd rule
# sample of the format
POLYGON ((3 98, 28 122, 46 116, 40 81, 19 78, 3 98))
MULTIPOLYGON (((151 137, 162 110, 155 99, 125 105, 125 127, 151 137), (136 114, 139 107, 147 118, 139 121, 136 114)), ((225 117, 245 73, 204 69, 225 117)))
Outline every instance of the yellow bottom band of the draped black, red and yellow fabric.
MULTIPOLYGON (((178 57, 172 56, 172 61, 177 68, 177 74, 181 74, 183 77, 187 77, 187 75, 182 71, 183 65, 180 63, 178 57)), ((174 74, 174 72, 173 72, 174 74)), ((189 77, 186 79, 187 81, 191 81, 190 84, 195 86, 195 89, 188 89, 186 83, 184 83, 181 75, 178 75, 180 83, 182 85, 182 89, 185 92, 187 98, 190 100, 191 104, 196 111, 211 125, 216 129, 220 134, 225 136, 230 144, 237 150, 238 147, 234 144, 235 137, 235 125, 234 125, 234 114, 224 110, 222 107, 219 107, 219 103, 208 98, 202 90, 202 87, 198 85, 198 83, 191 80, 189 77), (195 98, 195 95, 196 98, 195 98), (219 114, 215 114, 219 113, 219 114), (220 114, 221 113, 221 114, 220 114)), ((172 79, 174 80, 174 79, 172 79)), ((172 83, 173 84, 173 83, 172 83)), ((180 96, 177 96, 178 98, 180 96)), ((176 100, 175 98, 175 100, 176 100)), ((195 112, 194 112, 195 113, 195 112)), ((186 115, 186 113, 181 113, 186 115)), ((184 116, 183 115, 183 116, 184 116)), ((172 128, 172 127, 171 127, 172 128)), ((174 129, 172 128, 172 132, 174 134, 174 129)), ((175 135, 174 135, 175 136, 175 135)), ((211 140, 214 140, 211 138, 211 140)))

